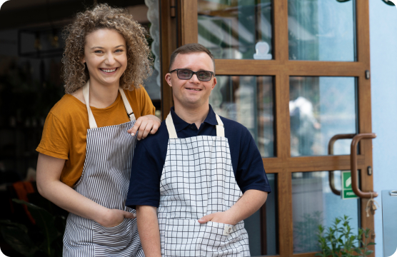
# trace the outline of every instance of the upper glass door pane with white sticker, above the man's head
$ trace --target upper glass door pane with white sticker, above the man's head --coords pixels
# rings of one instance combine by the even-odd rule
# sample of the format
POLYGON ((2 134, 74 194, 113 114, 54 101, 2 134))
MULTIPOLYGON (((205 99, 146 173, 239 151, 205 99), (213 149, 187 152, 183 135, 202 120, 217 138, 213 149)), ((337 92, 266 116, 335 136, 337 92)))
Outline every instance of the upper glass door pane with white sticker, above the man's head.
POLYGON ((216 59, 271 59, 271 0, 198 0, 198 43, 216 59))

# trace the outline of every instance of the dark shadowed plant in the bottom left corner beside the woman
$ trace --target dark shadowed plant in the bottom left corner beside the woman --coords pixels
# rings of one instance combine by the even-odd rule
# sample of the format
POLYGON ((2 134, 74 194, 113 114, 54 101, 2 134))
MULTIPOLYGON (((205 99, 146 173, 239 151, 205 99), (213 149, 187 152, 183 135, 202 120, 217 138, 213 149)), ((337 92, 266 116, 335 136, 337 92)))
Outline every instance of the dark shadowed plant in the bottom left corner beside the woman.
POLYGON ((36 221, 35 229, 24 224, 0 221, 1 236, 12 248, 27 257, 62 256, 62 237, 66 220, 64 216, 53 215, 46 209, 26 201, 13 199, 28 207, 36 221))

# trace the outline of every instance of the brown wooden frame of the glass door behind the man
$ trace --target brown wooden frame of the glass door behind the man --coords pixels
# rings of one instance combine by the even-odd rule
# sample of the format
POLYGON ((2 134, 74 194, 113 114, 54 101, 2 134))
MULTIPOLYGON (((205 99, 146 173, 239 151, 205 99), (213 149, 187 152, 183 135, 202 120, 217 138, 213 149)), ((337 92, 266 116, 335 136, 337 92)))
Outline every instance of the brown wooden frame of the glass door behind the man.
MULTIPOLYGON (((168 72, 169 57, 178 46, 198 41, 197 1, 161 0, 161 64, 164 78, 168 72), (171 9, 176 6, 176 15, 171 9)), ((369 4, 356 1, 356 55, 357 61, 291 61, 288 59, 288 0, 273 0, 273 60, 216 59, 217 75, 273 76, 276 157, 263 158, 266 173, 276 173, 278 188, 278 256, 313 257, 314 253, 293 253, 293 216, 291 172, 349 170, 350 156, 291 157, 289 118, 290 76, 353 76, 357 79, 358 133, 371 133, 369 4), (245 67, 246 69, 241 69, 245 67)), ((171 88, 163 79, 163 117, 172 106, 171 88)), ((357 166, 366 171, 372 164, 372 141, 361 141, 357 166)), ((373 176, 361 172, 361 190, 373 191, 373 176)), ((374 229, 373 216, 366 217, 367 199, 361 199, 361 227, 374 229)), ((374 247, 371 247, 375 250, 374 247)), ((374 256, 373 253, 372 256, 374 256)))

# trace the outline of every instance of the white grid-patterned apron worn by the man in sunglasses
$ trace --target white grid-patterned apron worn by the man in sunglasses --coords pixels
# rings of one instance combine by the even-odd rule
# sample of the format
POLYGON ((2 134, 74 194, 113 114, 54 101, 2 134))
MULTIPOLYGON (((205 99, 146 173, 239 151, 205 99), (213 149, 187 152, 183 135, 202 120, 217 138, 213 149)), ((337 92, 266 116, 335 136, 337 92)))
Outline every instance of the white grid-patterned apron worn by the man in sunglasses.
POLYGON ((242 196, 228 139, 216 115, 216 136, 178 138, 167 116, 169 144, 160 181, 162 256, 250 256, 243 221, 235 226, 198 219, 226 211, 242 196))

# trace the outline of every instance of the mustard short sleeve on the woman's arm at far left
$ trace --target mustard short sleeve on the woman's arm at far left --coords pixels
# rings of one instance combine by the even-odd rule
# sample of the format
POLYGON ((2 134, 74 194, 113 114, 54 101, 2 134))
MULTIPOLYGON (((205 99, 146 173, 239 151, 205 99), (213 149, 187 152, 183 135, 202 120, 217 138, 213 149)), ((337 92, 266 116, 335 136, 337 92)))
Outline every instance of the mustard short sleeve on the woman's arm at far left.
POLYGON ((43 135, 36 151, 55 158, 69 158, 69 141, 65 126, 51 112, 46 118, 43 135))

